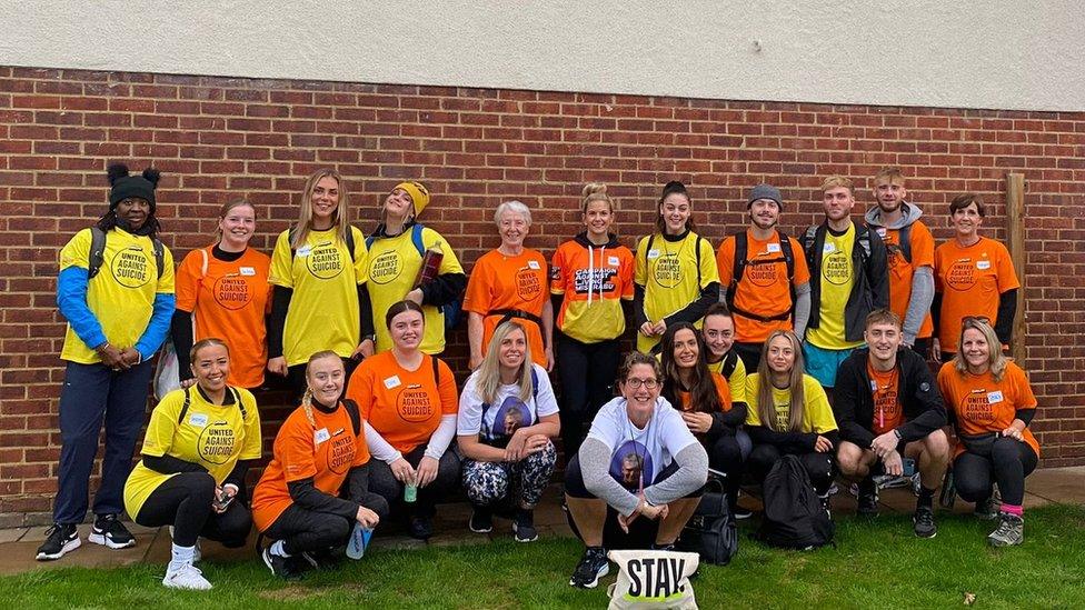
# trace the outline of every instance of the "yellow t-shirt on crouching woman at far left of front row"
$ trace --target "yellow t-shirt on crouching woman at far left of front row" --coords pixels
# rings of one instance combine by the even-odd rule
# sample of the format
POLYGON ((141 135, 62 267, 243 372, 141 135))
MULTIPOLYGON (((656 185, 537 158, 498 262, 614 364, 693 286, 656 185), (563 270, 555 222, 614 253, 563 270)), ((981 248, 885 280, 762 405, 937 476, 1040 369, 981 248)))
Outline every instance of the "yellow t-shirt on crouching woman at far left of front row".
MULTIPOLYGON (((256 399, 245 388, 232 389, 245 407, 243 419, 231 388, 226 390, 227 404, 221 406, 209 402, 197 387, 166 394, 151 411, 140 453, 156 458, 172 456, 199 464, 218 484, 222 484, 238 460, 260 459, 260 412, 256 399), (189 407, 178 423, 186 391, 189 407)), ((147 468, 140 460, 125 483, 125 510, 128 514, 132 518, 139 514, 139 509, 151 492, 171 477, 173 474, 162 474, 147 468)))

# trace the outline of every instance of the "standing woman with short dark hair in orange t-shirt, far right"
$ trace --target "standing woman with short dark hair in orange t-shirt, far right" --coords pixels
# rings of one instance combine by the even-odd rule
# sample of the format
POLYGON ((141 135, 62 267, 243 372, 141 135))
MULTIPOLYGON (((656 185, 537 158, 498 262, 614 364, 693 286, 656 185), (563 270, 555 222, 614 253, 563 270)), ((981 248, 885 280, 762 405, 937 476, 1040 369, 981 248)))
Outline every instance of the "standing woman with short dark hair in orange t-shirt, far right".
POLYGON ((986 216, 983 199, 965 193, 949 203, 956 236, 934 251, 935 322, 932 358, 948 362, 957 352, 960 321, 968 316, 991 320, 1002 344, 1009 344, 1021 282, 1002 242, 981 237, 986 216))

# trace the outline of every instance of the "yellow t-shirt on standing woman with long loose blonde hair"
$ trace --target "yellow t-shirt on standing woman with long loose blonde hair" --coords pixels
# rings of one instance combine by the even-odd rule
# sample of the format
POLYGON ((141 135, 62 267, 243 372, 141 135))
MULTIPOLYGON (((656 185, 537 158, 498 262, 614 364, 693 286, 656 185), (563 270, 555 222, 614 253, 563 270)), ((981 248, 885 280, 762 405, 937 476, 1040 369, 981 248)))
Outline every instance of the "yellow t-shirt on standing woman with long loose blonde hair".
POLYGON ((289 231, 275 242, 268 281, 293 289, 282 330, 289 367, 305 364, 321 350, 348 357, 358 347, 358 284, 366 282, 369 257, 361 231, 351 227, 357 256, 350 264, 351 253, 337 230, 309 231, 292 258, 289 231))

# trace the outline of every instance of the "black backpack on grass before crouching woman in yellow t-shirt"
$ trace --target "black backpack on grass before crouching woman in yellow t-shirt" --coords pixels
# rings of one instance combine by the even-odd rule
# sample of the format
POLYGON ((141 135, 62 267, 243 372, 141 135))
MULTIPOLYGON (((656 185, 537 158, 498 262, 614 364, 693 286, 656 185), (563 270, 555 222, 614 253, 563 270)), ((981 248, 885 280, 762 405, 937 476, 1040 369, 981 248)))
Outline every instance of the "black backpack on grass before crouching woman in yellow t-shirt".
POLYGON ((836 526, 795 456, 784 456, 765 478, 765 518, 757 538, 784 549, 810 550, 833 543, 836 526))

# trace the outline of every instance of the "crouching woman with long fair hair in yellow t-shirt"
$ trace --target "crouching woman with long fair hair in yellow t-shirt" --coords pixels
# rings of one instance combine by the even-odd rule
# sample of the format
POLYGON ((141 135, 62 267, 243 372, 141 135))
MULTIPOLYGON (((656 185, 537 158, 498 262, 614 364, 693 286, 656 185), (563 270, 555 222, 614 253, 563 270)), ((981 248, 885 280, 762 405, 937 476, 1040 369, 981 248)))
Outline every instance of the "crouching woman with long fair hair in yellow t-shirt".
POLYGON ((754 441, 746 463, 754 479, 764 481, 782 456, 797 456, 828 509, 839 431, 822 384, 803 372, 794 332, 768 336, 757 372, 746 378, 746 430, 754 441))

